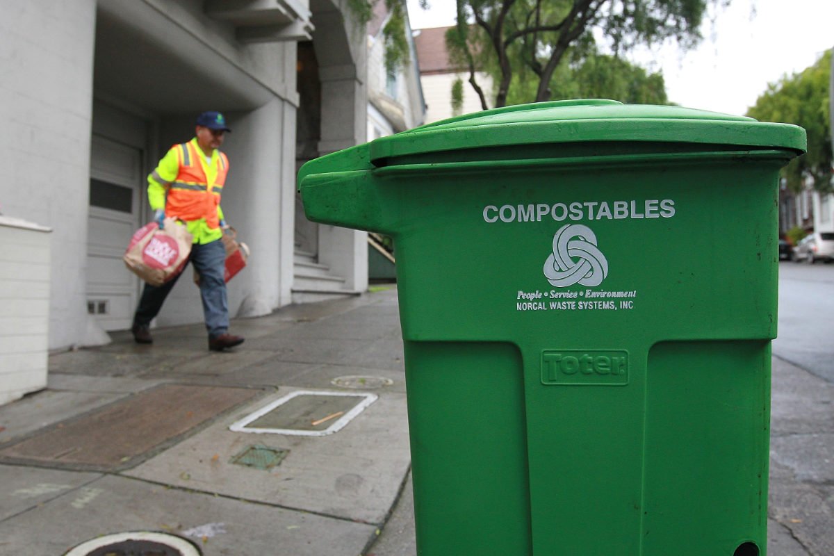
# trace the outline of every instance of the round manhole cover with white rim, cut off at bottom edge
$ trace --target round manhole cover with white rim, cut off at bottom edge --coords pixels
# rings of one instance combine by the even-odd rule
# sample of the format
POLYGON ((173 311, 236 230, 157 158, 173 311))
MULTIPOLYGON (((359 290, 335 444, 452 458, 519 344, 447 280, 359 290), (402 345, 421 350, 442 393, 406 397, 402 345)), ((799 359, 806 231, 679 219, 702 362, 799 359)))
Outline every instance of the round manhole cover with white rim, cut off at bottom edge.
POLYGON ((64 556, 200 556, 184 538, 168 533, 134 531, 93 538, 64 556))

